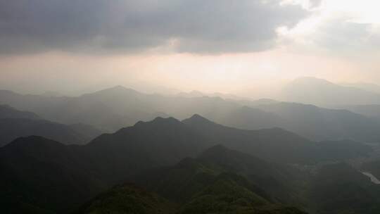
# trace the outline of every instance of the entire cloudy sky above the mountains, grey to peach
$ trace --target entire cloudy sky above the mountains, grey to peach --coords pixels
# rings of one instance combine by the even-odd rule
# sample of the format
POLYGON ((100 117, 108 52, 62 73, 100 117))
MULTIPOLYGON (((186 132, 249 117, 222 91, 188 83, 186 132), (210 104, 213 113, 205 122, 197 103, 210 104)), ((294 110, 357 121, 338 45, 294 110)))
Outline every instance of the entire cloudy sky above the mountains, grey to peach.
POLYGON ((380 84, 376 0, 0 0, 0 89, 262 94, 380 84))

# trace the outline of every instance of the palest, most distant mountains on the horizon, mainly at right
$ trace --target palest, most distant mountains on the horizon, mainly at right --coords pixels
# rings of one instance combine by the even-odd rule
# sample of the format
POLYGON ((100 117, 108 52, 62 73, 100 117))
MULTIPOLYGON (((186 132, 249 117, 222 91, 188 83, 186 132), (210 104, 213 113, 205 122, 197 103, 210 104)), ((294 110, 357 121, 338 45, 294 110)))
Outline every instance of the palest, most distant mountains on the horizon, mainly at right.
MULTIPOLYGON (((334 83, 316 77, 299 77, 284 83, 269 97, 279 101, 312 104, 325 108, 343 108, 344 106, 380 104, 380 86, 369 83, 334 83)), ((192 91, 179 96, 202 97, 218 96, 223 99, 246 100, 247 97, 233 94, 202 93, 192 91)))

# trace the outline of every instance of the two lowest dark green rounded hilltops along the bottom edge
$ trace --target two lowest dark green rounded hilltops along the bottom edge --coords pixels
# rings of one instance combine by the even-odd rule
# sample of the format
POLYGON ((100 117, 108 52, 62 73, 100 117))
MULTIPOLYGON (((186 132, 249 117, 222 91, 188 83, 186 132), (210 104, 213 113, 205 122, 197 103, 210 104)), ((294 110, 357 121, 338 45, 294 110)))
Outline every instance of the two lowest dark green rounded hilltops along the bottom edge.
POLYGON ((252 191, 251 184, 239 175, 222 173, 215 176, 210 184, 199 189, 182 203, 170 203, 157 194, 139 189, 132 184, 124 184, 96 196, 77 213, 303 213, 297 208, 267 201, 252 191))

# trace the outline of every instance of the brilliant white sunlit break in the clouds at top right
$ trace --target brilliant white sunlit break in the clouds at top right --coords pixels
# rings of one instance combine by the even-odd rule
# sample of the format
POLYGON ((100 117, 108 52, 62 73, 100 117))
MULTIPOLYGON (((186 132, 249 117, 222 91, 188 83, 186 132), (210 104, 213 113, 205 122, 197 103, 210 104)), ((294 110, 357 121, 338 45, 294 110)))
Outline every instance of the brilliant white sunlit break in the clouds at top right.
MULTIPOLYGON (((329 27, 331 23, 342 25, 365 25, 362 28, 369 37, 380 37, 380 1, 374 0, 322 0, 315 7, 310 7, 310 0, 285 0, 283 4, 300 4, 312 11, 312 15, 302 20, 296 27, 279 27, 279 41, 295 42, 303 49, 319 49, 314 44, 318 36, 324 36, 326 32, 321 31, 329 27)), ((362 38, 365 41, 368 38, 362 38)))

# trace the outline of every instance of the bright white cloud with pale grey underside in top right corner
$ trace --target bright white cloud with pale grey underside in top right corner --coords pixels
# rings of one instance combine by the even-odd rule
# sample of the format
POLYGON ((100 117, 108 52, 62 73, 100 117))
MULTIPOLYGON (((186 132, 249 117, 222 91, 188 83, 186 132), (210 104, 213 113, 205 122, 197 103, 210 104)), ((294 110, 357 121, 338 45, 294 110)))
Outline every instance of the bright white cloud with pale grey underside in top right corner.
POLYGON ((380 16, 368 4, 354 0, 329 0, 319 4, 315 12, 296 27, 279 28, 279 43, 304 54, 331 54, 360 60, 379 56, 380 16))

